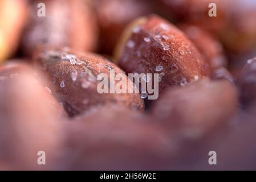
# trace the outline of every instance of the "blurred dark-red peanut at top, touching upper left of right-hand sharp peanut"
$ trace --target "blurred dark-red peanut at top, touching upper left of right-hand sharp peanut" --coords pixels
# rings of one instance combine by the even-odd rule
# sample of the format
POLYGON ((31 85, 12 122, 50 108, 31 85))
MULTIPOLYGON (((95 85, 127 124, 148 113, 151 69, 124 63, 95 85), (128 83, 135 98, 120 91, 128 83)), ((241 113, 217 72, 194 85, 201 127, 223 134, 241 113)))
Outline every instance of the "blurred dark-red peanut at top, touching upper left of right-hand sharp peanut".
POLYGON ((95 0, 100 27, 99 51, 112 55, 125 26, 133 19, 151 13, 151 3, 145 0, 95 0))

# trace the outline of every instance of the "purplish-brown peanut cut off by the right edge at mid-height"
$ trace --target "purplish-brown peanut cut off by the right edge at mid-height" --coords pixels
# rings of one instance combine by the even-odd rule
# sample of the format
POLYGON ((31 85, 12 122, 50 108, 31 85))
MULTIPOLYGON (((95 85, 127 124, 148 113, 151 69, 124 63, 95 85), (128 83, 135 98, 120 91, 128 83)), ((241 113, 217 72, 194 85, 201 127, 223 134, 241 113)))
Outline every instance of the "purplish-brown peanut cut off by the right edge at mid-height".
POLYGON ((247 60, 238 78, 241 102, 246 109, 256 106, 256 57, 247 60))

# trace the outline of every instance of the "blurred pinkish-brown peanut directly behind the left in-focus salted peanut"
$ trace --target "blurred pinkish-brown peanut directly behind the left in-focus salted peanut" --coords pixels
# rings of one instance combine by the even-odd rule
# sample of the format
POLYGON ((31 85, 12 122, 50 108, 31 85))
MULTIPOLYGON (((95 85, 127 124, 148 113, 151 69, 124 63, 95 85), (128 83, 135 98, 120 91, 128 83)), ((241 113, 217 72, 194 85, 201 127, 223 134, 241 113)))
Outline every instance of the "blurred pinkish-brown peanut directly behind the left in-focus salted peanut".
POLYGON ((90 1, 43 0, 31 1, 30 6, 30 23, 22 41, 23 52, 27 55, 44 44, 68 46, 79 51, 95 50, 97 26, 90 1), (45 16, 39 3, 46 7, 45 16))

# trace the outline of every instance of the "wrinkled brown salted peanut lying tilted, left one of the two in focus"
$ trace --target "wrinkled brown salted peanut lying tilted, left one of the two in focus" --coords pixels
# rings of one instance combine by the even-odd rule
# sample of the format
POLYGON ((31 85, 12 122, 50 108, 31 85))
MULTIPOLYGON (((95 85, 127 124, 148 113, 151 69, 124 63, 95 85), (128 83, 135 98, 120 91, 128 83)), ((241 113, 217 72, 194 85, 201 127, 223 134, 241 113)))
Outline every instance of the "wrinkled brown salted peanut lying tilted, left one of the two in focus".
MULTIPOLYGON (((109 77, 109 71, 115 69, 116 74, 124 74, 120 68, 102 56, 93 53, 63 51, 63 49, 43 49, 36 53, 34 61, 38 68, 47 75, 49 81, 55 85, 52 90, 54 90, 56 99, 63 103, 70 115, 81 114, 91 106, 104 105, 108 102, 124 105, 130 109, 144 110, 144 101, 139 93, 100 94, 97 92, 97 84, 100 81, 96 78, 99 73, 106 73, 109 77), (69 60, 52 57, 51 51, 74 53, 82 65, 72 65, 69 60), (72 73, 74 72, 77 76, 73 81, 72 73), (63 88, 62 82, 64 82, 63 88), (83 83, 86 83, 86 86, 83 87, 83 83)), ((128 82, 128 77, 126 79, 128 82)), ((117 82, 119 81, 115 80, 115 84, 117 82)))

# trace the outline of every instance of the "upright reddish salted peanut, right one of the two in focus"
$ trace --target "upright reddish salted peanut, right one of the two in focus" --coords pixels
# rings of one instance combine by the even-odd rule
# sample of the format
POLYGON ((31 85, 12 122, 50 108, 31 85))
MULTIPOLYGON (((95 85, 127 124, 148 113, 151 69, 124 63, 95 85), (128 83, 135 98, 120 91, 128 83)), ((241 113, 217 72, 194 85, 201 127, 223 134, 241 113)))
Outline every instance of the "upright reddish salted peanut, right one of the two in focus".
POLYGON ((186 36, 157 15, 136 19, 116 47, 126 73, 159 73, 160 92, 208 75, 208 64, 186 36))

